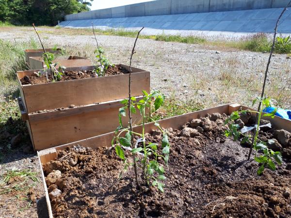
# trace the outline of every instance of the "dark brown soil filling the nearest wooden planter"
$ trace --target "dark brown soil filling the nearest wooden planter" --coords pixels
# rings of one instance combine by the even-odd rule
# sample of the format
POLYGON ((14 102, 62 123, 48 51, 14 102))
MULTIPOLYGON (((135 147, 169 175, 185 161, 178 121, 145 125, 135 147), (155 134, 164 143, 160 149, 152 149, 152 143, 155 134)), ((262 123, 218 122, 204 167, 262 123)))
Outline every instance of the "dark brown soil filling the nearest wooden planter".
MULTIPOLYGON (((46 178, 53 184, 49 193, 55 188, 62 192, 51 196, 54 216, 290 218, 290 156, 283 158, 276 171, 266 169, 258 176, 259 164, 246 161, 249 149, 225 138, 225 118, 202 118, 204 132, 192 136, 185 130, 169 130, 171 155, 168 166, 164 166, 165 193, 155 187, 137 191, 132 169, 118 181, 122 161, 113 151, 105 155, 106 148, 77 146, 58 152, 57 160, 43 166, 46 175, 61 171, 56 181, 46 178)), ((182 128, 190 129, 191 125, 182 128)), ((275 138, 274 130, 268 131, 261 131, 260 137, 275 138)), ((161 143, 161 135, 148 134, 146 139, 161 143)), ((290 148, 288 144, 284 149, 290 148)))

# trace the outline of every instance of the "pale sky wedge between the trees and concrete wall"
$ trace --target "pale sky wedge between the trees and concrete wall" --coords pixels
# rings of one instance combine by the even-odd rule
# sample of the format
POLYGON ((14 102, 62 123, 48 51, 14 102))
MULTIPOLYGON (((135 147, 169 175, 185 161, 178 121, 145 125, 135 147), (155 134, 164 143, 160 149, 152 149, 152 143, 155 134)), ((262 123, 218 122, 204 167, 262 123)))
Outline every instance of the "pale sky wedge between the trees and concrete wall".
POLYGON ((91 10, 103 9, 103 8, 112 8, 127 4, 140 3, 145 1, 152 0, 93 0, 91 10))

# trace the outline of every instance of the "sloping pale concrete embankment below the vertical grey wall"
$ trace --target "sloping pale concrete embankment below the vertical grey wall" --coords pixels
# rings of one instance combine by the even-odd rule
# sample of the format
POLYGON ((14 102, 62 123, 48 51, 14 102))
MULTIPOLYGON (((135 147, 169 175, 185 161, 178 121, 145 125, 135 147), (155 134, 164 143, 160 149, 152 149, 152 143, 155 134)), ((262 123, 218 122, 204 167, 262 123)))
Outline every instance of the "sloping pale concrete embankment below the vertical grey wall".
MULTIPOLYGON (((289 8, 291 9, 291 8, 289 8)), ((123 28, 137 30, 145 27, 144 34, 193 34, 197 32, 239 36, 243 33, 273 32, 275 22, 283 8, 192 13, 160 16, 136 16, 106 19, 71 20, 60 23, 61 27, 123 28)), ((278 32, 291 33, 291 10, 282 16, 278 32)))

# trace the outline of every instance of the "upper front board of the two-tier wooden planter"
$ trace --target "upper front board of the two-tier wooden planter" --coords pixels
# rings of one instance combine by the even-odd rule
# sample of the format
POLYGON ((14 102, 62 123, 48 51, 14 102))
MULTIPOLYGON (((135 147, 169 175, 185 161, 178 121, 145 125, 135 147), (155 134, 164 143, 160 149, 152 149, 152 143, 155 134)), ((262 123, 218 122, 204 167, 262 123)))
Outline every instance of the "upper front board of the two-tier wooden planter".
MULTIPOLYGON (((131 76, 132 96, 150 91, 149 72, 131 76)), ((67 108, 69 105, 89 105, 118 100, 128 96, 128 75, 86 78, 40 85, 23 86, 28 113, 43 109, 67 108), (61 94, 62 97, 56 97, 61 94)))

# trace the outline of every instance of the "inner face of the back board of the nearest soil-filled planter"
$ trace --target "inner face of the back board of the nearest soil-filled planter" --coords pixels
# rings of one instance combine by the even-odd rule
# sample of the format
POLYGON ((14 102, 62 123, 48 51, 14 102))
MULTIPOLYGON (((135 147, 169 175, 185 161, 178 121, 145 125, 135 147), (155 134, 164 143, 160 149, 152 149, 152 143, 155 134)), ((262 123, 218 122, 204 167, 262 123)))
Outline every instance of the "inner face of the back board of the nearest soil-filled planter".
MULTIPOLYGON (((210 108, 210 109, 203 109, 203 110, 198 110, 195 112, 191 112, 191 113, 187 113, 187 114, 183 114, 183 115, 179 115, 179 116, 175 116, 175 117, 170 117, 167 119, 163 119, 163 120, 159 120, 157 122, 159 122, 159 124, 163 127, 163 128, 173 128, 173 129, 178 129, 181 127, 181 125, 185 124, 186 122, 191 121, 192 119, 195 118, 200 118, 200 117, 204 117, 207 113, 226 113, 228 112, 228 105, 221 105, 221 106, 217 106, 214 108, 210 108)), ((145 131, 146 133, 151 133, 152 130, 157 129, 157 126, 154 125, 154 123, 147 123, 145 125, 145 131)), ((134 126, 133 127, 133 131, 135 132, 141 132, 142 130, 142 126, 134 126)), ((109 147, 111 146, 111 140, 113 139, 113 137, 115 136, 114 132, 110 132, 107 134, 103 134, 100 136, 96 136, 96 137, 92 137, 92 138, 88 138, 85 140, 79 140, 79 141, 75 141, 75 142, 71 142, 68 144, 64 144, 61 146, 57 146, 55 147, 56 150, 63 150, 66 147, 69 146, 77 146, 77 145, 81 145, 84 147, 91 147, 91 148, 97 148, 97 147, 109 147)))

